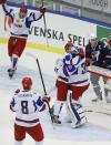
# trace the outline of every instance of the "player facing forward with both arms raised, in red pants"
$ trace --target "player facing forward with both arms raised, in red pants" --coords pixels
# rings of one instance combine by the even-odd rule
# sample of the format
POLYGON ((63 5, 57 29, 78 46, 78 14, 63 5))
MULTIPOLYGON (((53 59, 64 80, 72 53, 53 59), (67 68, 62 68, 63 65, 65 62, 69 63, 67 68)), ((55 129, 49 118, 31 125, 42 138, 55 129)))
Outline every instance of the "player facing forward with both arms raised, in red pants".
POLYGON ((17 70, 18 59, 21 56, 26 48, 31 23, 42 18, 46 12, 46 8, 40 7, 39 12, 31 12, 29 14, 26 6, 22 6, 20 11, 17 13, 12 9, 9 9, 7 3, 3 3, 2 8, 6 15, 12 20, 11 37, 8 42, 8 53, 11 60, 11 68, 8 72, 9 76, 12 77, 17 70))

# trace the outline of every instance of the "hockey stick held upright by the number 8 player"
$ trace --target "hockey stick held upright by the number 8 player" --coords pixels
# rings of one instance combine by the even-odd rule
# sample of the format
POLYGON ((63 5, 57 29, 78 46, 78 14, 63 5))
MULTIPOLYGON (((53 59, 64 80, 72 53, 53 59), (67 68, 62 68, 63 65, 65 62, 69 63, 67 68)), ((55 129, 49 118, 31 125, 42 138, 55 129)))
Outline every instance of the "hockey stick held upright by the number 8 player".
MULTIPOLYGON (((36 60, 37 64, 38 64, 38 69, 39 69, 39 73, 40 73, 40 77, 41 77, 41 82, 42 82, 42 86, 43 86, 43 92, 44 92, 44 95, 47 95, 47 90, 46 90, 46 85, 44 85, 44 81, 43 81, 43 76, 42 76, 42 72, 41 72, 41 68, 40 68, 40 63, 39 63, 39 60, 36 55, 31 54, 31 53, 27 53, 29 56, 31 56, 32 59, 36 60)), ((50 114, 50 117, 51 117, 51 122, 53 124, 53 116, 52 116, 52 113, 51 113, 51 108, 50 108, 50 105, 48 103, 48 108, 49 108, 49 114, 50 114)))

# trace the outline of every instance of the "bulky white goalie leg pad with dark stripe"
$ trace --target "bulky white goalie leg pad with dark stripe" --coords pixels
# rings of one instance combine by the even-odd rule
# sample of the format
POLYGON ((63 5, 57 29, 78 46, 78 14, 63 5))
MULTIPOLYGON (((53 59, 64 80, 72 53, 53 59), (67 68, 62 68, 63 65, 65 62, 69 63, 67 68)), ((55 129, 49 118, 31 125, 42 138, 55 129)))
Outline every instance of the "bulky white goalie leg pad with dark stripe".
POLYGON ((79 101, 72 101, 71 95, 68 96, 67 108, 71 122, 74 124, 73 126, 77 127, 87 122, 82 105, 80 104, 79 101))

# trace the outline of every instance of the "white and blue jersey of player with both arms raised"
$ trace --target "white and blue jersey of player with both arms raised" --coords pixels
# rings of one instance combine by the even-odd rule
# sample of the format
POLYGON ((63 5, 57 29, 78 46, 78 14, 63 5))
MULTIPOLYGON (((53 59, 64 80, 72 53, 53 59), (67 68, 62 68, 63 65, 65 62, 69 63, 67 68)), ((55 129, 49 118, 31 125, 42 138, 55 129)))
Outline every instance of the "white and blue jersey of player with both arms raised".
POLYGON ((31 27, 31 23, 33 21, 38 21, 41 19, 42 13, 38 12, 31 12, 28 17, 21 19, 20 13, 16 13, 12 9, 9 9, 7 4, 2 4, 3 11, 6 15, 10 17, 12 20, 11 24, 11 35, 16 38, 24 38, 27 39, 29 35, 29 30, 31 27))

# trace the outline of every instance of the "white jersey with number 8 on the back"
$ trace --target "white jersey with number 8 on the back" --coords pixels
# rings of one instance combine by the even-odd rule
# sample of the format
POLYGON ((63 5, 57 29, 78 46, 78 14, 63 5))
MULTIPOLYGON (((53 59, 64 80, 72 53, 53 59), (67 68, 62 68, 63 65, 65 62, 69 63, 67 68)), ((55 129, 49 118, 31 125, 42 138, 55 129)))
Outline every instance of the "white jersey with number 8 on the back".
POLYGON ((32 91, 20 91, 12 97, 10 108, 17 113, 16 124, 34 126, 39 124, 38 112, 46 108, 46 103, 39 94, 32 91))

